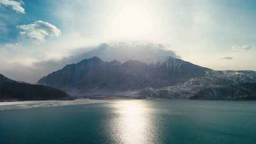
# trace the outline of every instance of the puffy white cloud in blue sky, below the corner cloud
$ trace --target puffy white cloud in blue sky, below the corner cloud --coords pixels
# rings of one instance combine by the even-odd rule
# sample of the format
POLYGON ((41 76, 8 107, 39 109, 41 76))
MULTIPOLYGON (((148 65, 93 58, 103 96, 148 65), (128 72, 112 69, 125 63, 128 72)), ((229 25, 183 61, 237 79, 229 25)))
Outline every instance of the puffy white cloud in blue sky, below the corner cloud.
POLYGON ((36 21, 34 24, 17 26, 21 31, 19 34, 37 41, 44 41, 47 36, 61 36, 61 30, 56 26, 43 22, 36 21))

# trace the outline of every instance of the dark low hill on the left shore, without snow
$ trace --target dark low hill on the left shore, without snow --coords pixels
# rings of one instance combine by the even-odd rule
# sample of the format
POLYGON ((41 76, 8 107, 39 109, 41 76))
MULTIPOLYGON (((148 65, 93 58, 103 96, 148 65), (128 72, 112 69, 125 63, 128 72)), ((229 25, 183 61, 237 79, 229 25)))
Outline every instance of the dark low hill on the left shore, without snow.
POLYGON ((62 90, 18 82, 0 74, 0 101, 70 99, 62 90))

